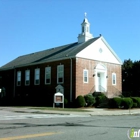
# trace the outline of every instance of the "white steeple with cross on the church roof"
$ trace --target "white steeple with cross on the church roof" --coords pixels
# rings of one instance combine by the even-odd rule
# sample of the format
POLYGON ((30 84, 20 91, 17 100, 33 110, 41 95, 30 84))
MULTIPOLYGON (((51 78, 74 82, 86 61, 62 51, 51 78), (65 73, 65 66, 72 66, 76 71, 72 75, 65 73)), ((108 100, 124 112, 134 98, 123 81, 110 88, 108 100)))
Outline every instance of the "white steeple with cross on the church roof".
POLYGON ((78 35, 78 43, 83 43, 93 38, 92 34, 90 33, 90 23, 88 22, 86 15, 87 13, 85 13, 85 18, 81 24, 82 32, 78 35))

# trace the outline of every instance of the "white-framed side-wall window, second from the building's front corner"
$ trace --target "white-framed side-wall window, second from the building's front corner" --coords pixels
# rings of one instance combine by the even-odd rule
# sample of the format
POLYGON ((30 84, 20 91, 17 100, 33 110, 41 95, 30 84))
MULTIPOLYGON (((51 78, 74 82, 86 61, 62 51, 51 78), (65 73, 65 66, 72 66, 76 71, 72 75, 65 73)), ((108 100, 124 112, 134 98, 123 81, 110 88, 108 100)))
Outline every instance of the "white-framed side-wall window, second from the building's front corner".
POLYGON ((51 67, 45 68, 45 84, 51 84, 51 67))

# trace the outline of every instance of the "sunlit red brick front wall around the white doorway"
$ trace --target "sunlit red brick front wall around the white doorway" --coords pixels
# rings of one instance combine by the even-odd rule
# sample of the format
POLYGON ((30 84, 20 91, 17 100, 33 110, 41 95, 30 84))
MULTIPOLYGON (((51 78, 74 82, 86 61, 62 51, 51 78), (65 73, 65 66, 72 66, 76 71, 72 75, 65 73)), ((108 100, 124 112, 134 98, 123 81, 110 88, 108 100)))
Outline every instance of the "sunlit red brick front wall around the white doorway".
POLYGON ((107 68, 107 86, 112 86, 112 73, 116 73, 116 80, 117 84, 114 86, 119 91, 122 91, 122 83, 121 83, 121 65, 99 62, 94 60, 88 60, 83 58, 76 59, 76 97, 78 95, 85 95, 90 93, 92 88, 95 86, 95 78, 93 77, 94 74, 94 67, 97 64, 103 64, 107 68), (88 70, 89 82, 83 83, 83 70, 88 70))

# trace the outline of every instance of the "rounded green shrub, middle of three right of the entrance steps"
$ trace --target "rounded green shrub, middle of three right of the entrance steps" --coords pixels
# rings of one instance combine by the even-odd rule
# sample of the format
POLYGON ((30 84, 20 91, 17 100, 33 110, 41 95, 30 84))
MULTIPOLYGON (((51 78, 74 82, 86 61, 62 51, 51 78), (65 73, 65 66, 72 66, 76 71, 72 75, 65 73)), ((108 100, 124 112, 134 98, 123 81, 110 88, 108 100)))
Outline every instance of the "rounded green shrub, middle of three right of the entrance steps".
POLYGON ((133 107, 133 100, 131 98, 123 98, 122 100, 122 106, 125 108, 125 109, 129 109, 129 108, 132 108, 133 107))

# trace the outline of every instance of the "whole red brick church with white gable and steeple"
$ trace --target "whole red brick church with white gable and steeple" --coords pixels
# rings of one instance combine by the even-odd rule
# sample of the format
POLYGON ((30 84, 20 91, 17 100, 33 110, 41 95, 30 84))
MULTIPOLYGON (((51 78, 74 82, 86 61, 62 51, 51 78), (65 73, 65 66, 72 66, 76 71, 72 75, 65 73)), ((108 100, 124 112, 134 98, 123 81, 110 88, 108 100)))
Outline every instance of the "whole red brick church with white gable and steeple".
POLYGON ((0 67, 0 86, 6 98, 53 102, 60 91, 72 102, 78 95, 103 92, 121 94, 122 62, 102 35, 93 37, 85 17, 78 41, 35 52, 0 67))

